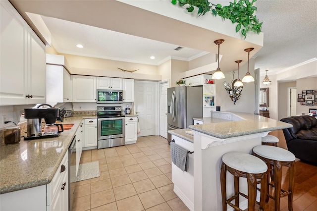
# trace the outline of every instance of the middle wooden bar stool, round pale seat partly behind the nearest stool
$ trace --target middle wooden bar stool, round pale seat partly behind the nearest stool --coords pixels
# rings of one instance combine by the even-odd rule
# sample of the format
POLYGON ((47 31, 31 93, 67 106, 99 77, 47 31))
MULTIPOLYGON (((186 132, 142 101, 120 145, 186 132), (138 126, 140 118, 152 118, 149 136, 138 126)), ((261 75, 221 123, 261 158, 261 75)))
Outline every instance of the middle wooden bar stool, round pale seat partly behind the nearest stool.
POLYGON ((293 211, 293 188, 295 180, 295 156, 293 153, 273 146, 256 146, 253 148, 253 154, 264 160, 267 164, 268 174, 269 169, 273 169, 273 184, 267 181, 267 191, 269 193, 269 186, 274 187, 274 196, 267 195, 266 202, 269 198, 275 201, 274 210, 279 211, 280 207, 280 197, 288 196, 288 210, 293 211), (289 186, 288 190, 285 191, 281 189, 282 183, 282 166, 287 166, 290 168, 289 171, 289 186))

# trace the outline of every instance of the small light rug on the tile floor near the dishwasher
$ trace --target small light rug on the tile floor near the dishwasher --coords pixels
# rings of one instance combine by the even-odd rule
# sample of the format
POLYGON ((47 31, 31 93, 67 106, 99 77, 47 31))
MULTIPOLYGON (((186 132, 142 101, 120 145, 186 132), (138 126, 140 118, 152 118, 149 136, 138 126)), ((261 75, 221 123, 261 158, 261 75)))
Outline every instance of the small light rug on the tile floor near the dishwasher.
MULTIPOLYGON (((76 166, 72 166, 71 171, 75 173, 76 166)), ((76 175, 76 174, 73 174, 76 175)), ((70 178, 70 182, 78 182, 86 179, 92 179, 100 176, 99 161, 79 164, 77 177, 70 178)))

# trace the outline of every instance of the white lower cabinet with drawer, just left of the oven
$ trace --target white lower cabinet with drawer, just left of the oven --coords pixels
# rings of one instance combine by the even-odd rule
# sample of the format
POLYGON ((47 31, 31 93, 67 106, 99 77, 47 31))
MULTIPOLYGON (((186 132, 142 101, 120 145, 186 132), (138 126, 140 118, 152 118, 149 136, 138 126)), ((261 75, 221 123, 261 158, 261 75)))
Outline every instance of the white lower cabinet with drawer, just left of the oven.
POLYGON ((97 148, 97 118, 85 119, 85 147, 97 148))

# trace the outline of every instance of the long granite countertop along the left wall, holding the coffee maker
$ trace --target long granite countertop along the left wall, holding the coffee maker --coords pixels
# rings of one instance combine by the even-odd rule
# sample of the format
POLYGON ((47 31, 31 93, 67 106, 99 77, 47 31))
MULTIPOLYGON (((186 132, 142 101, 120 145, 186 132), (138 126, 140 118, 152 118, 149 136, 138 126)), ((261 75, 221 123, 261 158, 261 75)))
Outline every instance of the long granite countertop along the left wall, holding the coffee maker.
POLYGON ((49 184, 68 153, 80 122, 97 116, 64 118, 62 124, 73 123, 56 138, 27 140, 13 145, 0 145, 0 194, 49 184))

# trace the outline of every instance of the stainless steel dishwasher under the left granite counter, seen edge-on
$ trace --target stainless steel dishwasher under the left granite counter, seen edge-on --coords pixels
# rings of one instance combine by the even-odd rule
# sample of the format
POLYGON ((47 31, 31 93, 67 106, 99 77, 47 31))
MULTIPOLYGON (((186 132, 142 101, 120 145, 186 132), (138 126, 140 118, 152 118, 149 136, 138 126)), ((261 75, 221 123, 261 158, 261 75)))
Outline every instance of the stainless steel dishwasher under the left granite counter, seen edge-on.
MULTIPOLYGON (((68 184, 76 178, 76 136, 68 148, 68 184)), ((71 211, 74 202, 75 187, 68 188, 68 210, 71 211)))

